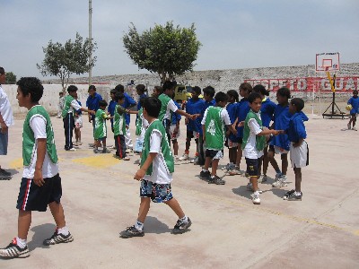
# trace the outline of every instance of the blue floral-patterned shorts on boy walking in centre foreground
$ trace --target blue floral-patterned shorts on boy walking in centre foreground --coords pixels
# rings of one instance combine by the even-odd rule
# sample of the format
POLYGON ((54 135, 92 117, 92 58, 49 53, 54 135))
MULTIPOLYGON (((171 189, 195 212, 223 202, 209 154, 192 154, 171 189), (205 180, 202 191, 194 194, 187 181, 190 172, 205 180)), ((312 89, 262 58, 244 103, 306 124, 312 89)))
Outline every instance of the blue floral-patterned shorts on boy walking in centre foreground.
POLYGON ((170 201, 173 198, 171 184, 157 184, 152 181, 142 180, 140 196, 150 197, 154 203, 170 201))

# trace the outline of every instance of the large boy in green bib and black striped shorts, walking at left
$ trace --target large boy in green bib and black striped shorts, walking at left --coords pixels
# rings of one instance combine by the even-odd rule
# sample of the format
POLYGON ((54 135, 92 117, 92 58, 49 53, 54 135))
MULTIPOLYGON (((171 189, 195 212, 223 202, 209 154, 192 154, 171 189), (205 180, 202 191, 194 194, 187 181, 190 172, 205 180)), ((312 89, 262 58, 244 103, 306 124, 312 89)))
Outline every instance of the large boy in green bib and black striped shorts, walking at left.
POLYGON ((0 249, 0 256, 4 258, 30 256, 27 237, 32 211, 45 212, 49 207, 57 224, 52 237, 43 241, 45 246, 74 240, 66 227, 60 202, 62 187, 51 119, 48 111, 39 105, 44 88, 36 77, 22 77, 16 84, 19 106, 29 111, 22 131, 24 168, 16 205, 19 210, 18 235, 7 247, 0 249))

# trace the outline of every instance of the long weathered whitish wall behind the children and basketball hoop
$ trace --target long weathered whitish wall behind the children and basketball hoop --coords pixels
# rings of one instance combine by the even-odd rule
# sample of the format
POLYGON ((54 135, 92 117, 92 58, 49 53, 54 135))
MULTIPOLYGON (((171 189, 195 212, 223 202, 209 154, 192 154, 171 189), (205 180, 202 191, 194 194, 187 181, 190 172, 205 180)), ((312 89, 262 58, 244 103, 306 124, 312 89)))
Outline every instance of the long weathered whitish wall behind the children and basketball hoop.
MULTIPOLYGON (((326 77, 326 74, 316 74, 314 65, 300 65, 300 66, 280 66, 280 67, 262 67, 262 68, 247 68, 247 69, 229 69, 229 70, 207 70, 187 73, 177 77, 177 82, 188 85, 198 85, 201 88, 211 85, 215 87, 216 91, 228 91, 238 89, 241 82, 245 80, 267 80, 267 79, 285 79, 285 78, 306 78, 306 77, 326 77)), ((355 77, 353 85, 355 89, 358 85, 359 63, 342 64, 340 72, 337 76, 355 77)), ((109 100, 109 90, 113 89, 118 83, 127 85, 128 82, 134 80, 136 84, 143 83, 152 91, 153 86, 160 84, 158 74, 124 74, 124 75, 107 75, 95 76, 92 78, 93 84, 96 85, 97 91, 101 94, 104 100, 109 100)), ((74 78, 69 82, 75 84, 78 88, 78 96, 80 101, 85 106, 88 93, 88 78, 74 78)), ((51 114, 57 113, 58 92, 61 91, 59 80, 44 81, 44 96, 40 103, 48 109, 51 114)), ((15 85, 3 85, 12 105, 15 114, 25 113, 25 110, 18 108, 16 100, 15 85)), ((320 92, 323 99, 331 99, 331 91, 320 92)), ((346 100, 351 95, 350 91, 343 91, 337 93, 337 100, 346 100)), ((131 95, 136 98, 135 91, 129 91, 131 95)), ((271 98, 274 98, 275 92, 271 92, 271 98)), ((318 96, 311 91, 295 91, 293 96, 302 97, 305 100, 313 100, 318 96)))

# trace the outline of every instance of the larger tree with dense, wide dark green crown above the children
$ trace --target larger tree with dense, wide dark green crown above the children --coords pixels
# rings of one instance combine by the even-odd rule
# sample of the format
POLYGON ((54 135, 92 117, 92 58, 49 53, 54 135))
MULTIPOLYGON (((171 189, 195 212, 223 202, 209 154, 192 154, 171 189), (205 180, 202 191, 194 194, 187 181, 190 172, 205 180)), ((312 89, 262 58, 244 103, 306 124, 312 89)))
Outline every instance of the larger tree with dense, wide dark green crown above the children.
POLYGON ((159 74, 161 81, 192 71, 202 44, 197 40, 195 24, 189 28, 155 25, 139 34, 134 23, 123 36, 127 55, 140 69, 159 74))

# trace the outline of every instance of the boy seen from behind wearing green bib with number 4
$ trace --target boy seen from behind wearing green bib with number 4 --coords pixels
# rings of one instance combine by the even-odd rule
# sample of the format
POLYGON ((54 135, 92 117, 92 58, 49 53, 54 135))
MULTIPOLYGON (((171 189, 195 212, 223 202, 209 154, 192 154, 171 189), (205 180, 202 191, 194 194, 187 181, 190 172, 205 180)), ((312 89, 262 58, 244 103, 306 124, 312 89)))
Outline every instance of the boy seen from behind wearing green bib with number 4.
POLYGON ((206 108, 202 119, 203 140, 206 143, 205 167, 200 172, 201 178, 207 179, 209 184, 224 185, 225 181, 217 176, 218 162, 223 158, 225 132, 224 126, 233 133, 237 130, 232 126, 230 116, 224 108, 228 96, 222 91, 215 94, 215 106, 206 108), (212 161, 212 173, 208 171, 212 161))

